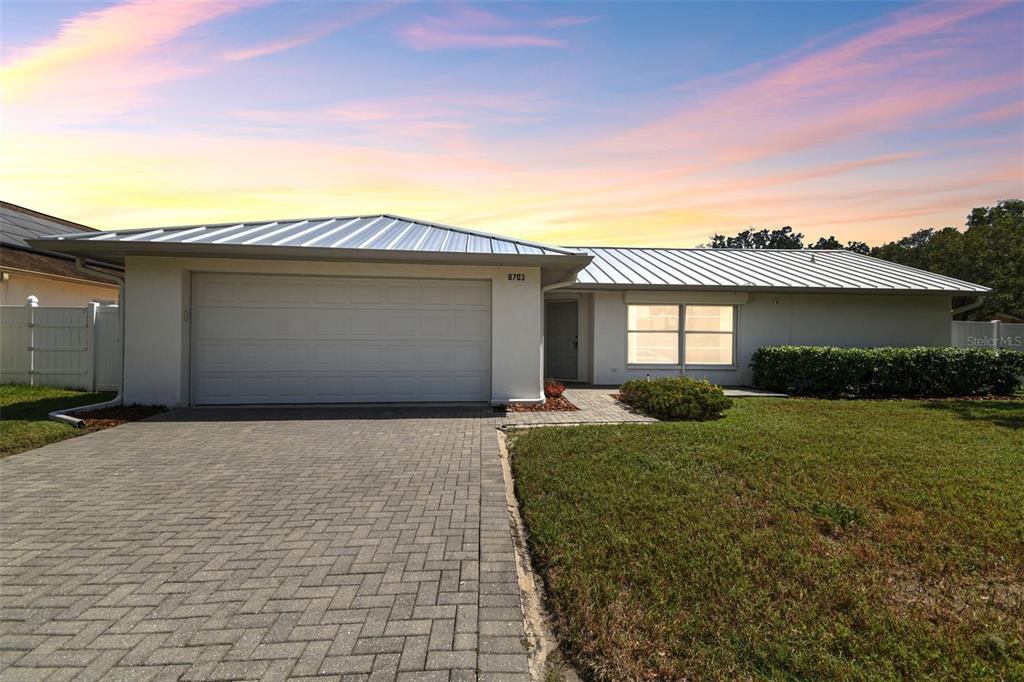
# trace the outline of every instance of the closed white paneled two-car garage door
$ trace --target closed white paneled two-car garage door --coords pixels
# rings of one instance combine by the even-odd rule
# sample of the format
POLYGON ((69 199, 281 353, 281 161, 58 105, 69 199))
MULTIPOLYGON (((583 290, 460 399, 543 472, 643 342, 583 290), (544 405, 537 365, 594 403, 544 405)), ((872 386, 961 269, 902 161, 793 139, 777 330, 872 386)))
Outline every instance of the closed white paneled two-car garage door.
POLYGON ((490 283, 193 276, 197 404, 490 397, 490 283))

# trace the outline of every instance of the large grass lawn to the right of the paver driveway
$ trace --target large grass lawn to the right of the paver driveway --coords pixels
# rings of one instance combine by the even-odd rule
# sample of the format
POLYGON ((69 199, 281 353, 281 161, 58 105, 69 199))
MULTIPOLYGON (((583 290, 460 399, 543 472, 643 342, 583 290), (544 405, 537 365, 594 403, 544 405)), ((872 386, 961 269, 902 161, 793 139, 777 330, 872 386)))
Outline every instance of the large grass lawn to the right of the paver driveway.
POLYGON ((512 453, 587 678, 1024 679, 1024 400, 743 398, 512 453))

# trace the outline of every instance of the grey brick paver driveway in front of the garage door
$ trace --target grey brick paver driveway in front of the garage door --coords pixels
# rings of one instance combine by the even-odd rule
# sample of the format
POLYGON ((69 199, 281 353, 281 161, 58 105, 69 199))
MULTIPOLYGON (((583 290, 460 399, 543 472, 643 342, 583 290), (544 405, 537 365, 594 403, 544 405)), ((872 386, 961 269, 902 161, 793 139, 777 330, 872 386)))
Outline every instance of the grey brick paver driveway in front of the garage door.
POLYGON ((0 462, 0 678, 520 680, 489 410, 182 411, 0 462))

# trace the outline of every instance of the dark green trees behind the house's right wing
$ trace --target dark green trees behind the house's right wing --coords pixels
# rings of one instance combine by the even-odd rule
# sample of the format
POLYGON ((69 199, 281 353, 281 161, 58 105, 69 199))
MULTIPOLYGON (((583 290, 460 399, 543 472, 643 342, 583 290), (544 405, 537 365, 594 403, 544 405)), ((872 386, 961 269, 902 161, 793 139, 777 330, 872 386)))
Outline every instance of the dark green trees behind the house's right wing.
MULTIPOLYGON (((968 319, 1024 322, 1024 200, 1010 199, 976 208, 964 229, 919 229, 899 240, 869 247, 822 237, 804 244, 804 235, 786 225, 744 229, 734 237, 714 235, 712 249, 844 249, 901 265, 974 282, 992 289, 968 319)), ((957 300, 956 304, 962 301, 957 300)))

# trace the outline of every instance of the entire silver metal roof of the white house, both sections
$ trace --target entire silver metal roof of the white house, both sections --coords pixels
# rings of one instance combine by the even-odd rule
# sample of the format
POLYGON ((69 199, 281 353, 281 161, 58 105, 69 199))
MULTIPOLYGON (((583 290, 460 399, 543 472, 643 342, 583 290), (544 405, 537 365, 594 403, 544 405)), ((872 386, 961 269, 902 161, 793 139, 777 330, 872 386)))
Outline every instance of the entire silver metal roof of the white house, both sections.
MULTIPOLYGON (((112 246, 124 243, 126 249, 129 244, 152 243, 161 247, 167 245, 168 249, 173 249, 173 245, 178 245, 179 248, 182 245, 207 248, 211 245, 225 245, 352 251, 364 249, 421 254, 591 256, 593 260, 577 275, 575 286, 582 288, 784 289, 949 294, 984 294, 989 291, 970 282, 849 251, 555 247, 389 214, 112 231, 69 231, 47 236, 46 241, 66 244, 99 242, 112 246)), ((395 256, 401 257, 400 253, 395 253, 395 256)))

